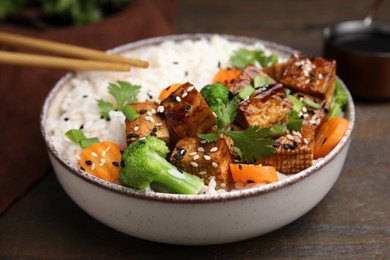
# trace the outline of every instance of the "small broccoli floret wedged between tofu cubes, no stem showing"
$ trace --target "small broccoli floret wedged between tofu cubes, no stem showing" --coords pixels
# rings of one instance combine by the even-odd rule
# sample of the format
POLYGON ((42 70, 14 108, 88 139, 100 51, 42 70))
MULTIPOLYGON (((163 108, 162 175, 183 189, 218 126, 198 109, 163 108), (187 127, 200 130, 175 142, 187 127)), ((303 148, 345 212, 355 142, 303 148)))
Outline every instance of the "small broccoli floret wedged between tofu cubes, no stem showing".
POLYGON ((200 93, 214 112, 222 110, 222 106, 229 102, 229 90, 219 82, 204 86, 200 93))

